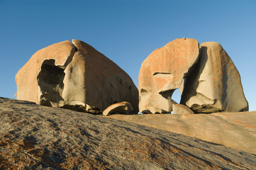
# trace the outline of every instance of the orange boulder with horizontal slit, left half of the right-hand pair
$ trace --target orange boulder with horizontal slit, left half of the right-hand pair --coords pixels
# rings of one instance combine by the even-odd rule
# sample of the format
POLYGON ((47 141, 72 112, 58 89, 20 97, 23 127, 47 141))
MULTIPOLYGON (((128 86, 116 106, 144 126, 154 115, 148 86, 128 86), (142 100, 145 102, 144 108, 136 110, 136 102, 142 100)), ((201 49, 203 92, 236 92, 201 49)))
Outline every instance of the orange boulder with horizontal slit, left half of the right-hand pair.
POLYGON ((152 52, 139 74, 140 113, 170 113, 172 94, 199 57, 199 42, 176 39, 152 52))

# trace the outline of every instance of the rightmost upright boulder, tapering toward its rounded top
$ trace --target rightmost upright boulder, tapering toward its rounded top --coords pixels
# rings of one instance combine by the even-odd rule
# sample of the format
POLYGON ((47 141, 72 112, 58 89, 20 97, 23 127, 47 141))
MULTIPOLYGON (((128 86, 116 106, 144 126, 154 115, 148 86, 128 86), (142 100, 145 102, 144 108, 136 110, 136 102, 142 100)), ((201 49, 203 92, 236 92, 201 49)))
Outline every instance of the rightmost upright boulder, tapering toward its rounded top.
POLYGON ((240 74, 223 47, 204 42, 200 53, 186 78, 181 103, 196 113, 248 111, 240 74))

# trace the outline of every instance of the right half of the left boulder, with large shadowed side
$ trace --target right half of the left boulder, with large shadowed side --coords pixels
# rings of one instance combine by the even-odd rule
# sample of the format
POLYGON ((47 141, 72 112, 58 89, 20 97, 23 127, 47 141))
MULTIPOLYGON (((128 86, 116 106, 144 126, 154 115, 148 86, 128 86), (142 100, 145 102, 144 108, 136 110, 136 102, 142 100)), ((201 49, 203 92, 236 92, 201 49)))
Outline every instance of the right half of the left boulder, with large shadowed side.
POLYGON ((138 113, 138 89, 128 74, 91 45, 80 40, 73 43, 78 51, 65 69, 64 100, 81 101, 99 111, 128 101, 138 113))

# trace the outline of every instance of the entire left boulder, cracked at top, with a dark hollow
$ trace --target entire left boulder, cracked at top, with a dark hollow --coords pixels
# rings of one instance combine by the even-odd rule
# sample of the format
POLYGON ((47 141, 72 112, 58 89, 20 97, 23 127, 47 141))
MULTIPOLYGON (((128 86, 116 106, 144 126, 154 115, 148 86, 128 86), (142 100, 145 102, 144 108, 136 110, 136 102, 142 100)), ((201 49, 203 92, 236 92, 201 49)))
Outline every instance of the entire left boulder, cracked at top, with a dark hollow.
POLYGON ((16 74, 17 98, 97 113, 128 101, 138 113, 138 89, 118 65, 85 42, 59 42, 35 52, 16 74))

